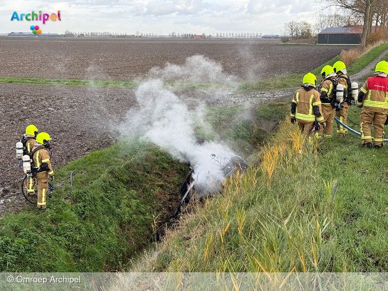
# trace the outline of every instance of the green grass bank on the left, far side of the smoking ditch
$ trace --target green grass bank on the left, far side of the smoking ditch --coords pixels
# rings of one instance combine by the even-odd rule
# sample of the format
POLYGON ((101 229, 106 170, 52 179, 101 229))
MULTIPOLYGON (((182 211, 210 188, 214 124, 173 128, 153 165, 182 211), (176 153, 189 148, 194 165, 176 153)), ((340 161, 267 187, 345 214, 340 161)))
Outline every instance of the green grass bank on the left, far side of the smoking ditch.
MULTIPOLYGON (((288 105, 266 105, 278 121, 288 105)), ((210 139, 226 138, 235 148, 252 153, 270 133, 255 125, 267 117, 257 109, 209 108, 205 121, 214 130, 198 127, 210 139), (250 115, 248 118, 247 110, 250 115)), ((55 153, 55 149, 54 149, 55 153)), ((54 197, 48 210, 29 205, 0 220, 0 271, 102 272, 124 268, 152 238, 154 218, 168 219, 180 196, 176 192, 189 172, 162 149, 133 138, 92 152, 55 169, 54 197), (58 201, 70 192, 71 199, 58 201), (175 203, 175 204, 174 204, 175 203), (157 217, 157 218, 156 218, 157 217)), ((21 194, 20 194, 21 195, 21 194)))

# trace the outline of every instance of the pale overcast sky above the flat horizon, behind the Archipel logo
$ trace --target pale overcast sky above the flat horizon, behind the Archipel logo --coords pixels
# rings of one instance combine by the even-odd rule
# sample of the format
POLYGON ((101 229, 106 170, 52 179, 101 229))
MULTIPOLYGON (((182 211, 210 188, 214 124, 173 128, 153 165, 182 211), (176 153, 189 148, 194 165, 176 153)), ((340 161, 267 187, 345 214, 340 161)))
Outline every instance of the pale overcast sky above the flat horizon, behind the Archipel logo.
POLYGON ((109 31, 127 34, 259 32, 280 34, 290 20, 314 23, 314 0, 0 0, 0 32, 109 31), (14 11, 61 11, 61 21, 11 21, 14 11))

